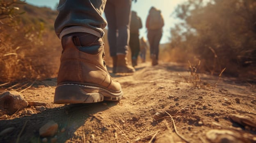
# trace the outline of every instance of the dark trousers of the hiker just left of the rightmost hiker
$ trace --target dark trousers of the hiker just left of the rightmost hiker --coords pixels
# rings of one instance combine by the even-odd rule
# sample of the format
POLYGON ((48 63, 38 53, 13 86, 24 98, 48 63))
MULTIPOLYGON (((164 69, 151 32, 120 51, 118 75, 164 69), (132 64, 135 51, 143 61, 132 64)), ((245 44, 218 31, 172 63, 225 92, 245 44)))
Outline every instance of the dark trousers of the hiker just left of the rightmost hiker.
POLYGON ((132 58, 136 59, 139 55, 139 34, 130 34, 130 49, 132 58))

